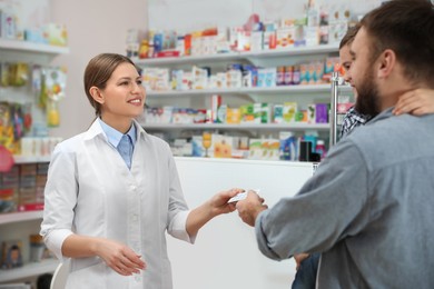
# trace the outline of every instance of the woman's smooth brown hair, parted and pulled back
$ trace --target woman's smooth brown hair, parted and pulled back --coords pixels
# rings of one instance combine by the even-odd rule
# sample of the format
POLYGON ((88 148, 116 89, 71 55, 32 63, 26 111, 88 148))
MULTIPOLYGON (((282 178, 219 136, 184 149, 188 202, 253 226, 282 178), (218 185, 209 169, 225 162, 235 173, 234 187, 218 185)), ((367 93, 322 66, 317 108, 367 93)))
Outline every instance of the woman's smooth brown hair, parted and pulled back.
POLYGON ((90 88, 97 87, 99 89, 105 89, 107 81, 110 79, 111 74, 116 68, 121 63, 135 63, 127 57, 116 53, 101 53, 93 57, 85 70, 85 92, 89 99, 90 104, 95 108, 95 113, 97 116, 101 114, 101 104, 92 98, 90 94, 90 88))

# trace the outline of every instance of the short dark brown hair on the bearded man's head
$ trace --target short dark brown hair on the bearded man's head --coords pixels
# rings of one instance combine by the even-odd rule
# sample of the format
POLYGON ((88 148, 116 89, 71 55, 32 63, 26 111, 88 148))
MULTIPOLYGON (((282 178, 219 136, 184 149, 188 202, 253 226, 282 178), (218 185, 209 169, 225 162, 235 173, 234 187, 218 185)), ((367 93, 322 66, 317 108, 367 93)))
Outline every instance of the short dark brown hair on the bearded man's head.
POLYGON ((410 81, 434 87, 434 7, 427 0, 392 0, 362 19, 375 60, 384 50, 396 53, 410 81))

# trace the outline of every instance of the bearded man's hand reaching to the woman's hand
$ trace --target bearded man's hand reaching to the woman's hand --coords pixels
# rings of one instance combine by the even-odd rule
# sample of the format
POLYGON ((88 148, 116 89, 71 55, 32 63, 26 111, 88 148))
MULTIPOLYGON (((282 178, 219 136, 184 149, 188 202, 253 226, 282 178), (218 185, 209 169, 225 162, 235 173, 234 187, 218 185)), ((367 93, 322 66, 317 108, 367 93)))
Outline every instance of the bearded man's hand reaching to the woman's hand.
POLYGON ((268 209, 267 205, 264 205, 264 199, 260 198, 255 191, 248 191, 247 198, 240 200, 236 205, 236 209, 238 210, 238 215, 241 220, 254 227, 256 217, 259 212, 268 209))

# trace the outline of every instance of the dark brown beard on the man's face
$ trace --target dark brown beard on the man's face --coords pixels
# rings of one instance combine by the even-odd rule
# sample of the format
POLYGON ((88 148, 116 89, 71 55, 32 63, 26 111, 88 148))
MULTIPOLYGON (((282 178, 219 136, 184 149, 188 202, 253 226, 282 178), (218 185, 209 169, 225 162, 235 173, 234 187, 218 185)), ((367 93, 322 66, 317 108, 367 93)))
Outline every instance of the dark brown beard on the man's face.
POLYGON ((372 118, 376 117, 381 112, 378 99, 378 87, 376 86, 373 71, 369 71, 369 76, 365 77, 362 81, 362 86, 357 89, 357 99, 355 104, 355 110, 358 113, 369 116, 372 118))

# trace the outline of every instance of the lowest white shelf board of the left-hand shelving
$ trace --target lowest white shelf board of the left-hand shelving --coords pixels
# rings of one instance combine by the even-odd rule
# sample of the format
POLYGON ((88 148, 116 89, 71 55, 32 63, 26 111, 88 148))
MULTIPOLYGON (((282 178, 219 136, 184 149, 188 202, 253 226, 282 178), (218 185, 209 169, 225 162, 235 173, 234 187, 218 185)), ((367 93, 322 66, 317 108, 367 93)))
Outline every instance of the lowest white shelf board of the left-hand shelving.
POLYGON ((42 273, 52 273, 58 267, 57 259, 43 260, 41 262, 27 263, 23 267, 8 270, 0 270, 0 282, 9 282, 42 273))

